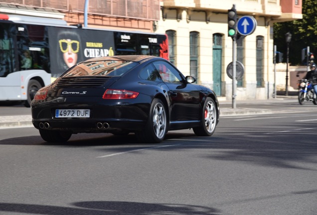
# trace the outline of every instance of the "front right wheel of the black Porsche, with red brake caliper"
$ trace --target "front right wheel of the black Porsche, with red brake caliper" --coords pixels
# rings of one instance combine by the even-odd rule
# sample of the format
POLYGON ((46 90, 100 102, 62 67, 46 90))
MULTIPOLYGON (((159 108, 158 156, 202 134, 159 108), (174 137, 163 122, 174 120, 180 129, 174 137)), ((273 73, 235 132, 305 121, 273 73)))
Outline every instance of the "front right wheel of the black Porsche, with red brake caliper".
POLYGON ((199 127, 193 127, 193 131, 197 136, 211 136, 217 125, 216 103, 210 97, 206 101, 202 110, 202 120, 199 127))

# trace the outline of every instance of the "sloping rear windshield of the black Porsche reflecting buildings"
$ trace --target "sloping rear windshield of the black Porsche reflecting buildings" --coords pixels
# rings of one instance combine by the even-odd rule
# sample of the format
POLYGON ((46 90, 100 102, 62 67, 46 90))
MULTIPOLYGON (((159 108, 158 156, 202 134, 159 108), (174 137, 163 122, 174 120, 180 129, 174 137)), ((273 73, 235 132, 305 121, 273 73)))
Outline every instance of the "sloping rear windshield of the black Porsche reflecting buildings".
POLYGON ((62 77, 74 76, 122 76, 139 65, 132 61, 93 61, 81 63, 67 71, 62 77))

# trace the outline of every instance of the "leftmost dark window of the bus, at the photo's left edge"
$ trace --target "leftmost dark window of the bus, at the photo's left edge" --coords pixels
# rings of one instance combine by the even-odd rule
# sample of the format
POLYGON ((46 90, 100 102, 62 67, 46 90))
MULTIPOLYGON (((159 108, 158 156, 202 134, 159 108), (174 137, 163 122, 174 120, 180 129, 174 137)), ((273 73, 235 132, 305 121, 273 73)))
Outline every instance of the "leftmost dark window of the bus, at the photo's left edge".
POLYGON ((14 44, 10 24, 0 24, 0 77, 6 77, 14 71, 14 44))

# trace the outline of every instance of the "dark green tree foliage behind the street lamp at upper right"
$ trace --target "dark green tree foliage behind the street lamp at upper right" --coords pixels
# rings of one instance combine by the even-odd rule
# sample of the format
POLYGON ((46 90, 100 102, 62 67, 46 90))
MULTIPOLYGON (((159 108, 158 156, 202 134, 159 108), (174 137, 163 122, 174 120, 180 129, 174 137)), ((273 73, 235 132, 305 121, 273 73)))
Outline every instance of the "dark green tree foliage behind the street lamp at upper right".
POLYGON ((317 0, 303 0, 303 19, 274 23, 274 45, 277 51, 284 53, 286 62, 287 43, 285 34, 290 32, 289 62, 293 65, 302 64, 303 48, 310 47, 310 52, 317 54, 317 0))

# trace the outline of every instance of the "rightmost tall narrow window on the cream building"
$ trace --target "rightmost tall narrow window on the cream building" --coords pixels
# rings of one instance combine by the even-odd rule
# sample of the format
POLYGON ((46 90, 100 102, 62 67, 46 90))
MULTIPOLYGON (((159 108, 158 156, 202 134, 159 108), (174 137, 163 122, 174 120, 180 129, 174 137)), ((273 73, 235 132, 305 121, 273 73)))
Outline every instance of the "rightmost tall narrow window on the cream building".
POLYGON ((257 71, 257 87, 263 87, 263 46, 264 37, 257 36, 257 47, 256 47, 256 71, 257 71))

